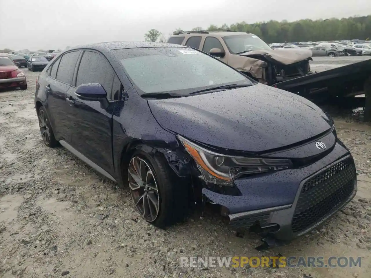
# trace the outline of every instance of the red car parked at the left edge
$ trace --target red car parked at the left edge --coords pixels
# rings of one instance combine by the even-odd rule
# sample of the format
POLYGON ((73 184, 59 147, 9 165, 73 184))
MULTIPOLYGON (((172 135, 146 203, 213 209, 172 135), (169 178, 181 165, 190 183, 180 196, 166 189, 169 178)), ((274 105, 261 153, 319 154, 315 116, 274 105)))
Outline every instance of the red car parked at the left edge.
POLYGON ((0 56, 0 88, 20 87, 27 89, 26 76, 16 66, 12 59, 0 56))

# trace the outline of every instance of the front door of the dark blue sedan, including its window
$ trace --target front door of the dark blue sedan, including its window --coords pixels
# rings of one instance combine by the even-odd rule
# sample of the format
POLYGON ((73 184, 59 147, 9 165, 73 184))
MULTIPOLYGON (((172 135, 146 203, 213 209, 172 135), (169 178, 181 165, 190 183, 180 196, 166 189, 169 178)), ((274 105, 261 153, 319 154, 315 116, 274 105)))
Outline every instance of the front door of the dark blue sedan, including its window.
POLYGON ((73 148, 86 158, 113 172, 112 160, 112 107, 119 98, 121 83, 106 57, 92 50, 84 51, 76 75, 76 86, 68 90, 67 113, 73 126, 73 148), (110 106, 103 109, 99 102, 80 100, 75 96, 81 84, 99 83, 107 92, 110 106))

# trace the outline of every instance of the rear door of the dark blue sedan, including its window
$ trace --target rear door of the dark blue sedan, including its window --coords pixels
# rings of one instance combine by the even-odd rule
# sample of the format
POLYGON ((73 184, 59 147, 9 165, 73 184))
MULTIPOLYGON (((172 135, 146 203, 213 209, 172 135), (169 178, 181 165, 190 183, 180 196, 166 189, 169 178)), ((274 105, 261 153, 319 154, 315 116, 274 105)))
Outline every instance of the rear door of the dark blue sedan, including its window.
POLYGON ((68 52, 55 60, 47 70, 46 82, 42 85, 46 94, 46 109, 57 140, 69 140, 66 92, 70 87, 79 53, 80 51, 68 52))

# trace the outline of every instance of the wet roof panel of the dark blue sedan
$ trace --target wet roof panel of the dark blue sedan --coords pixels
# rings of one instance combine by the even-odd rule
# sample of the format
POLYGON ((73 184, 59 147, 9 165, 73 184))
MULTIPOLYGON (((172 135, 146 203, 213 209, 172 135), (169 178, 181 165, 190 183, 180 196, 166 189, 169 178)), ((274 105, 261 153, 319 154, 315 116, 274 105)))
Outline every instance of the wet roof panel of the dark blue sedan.
POLYGON ((92 48, 101 50, 114 50, 114 49, 128 49, 128 48, 142 48, 142 47, 187 47, 173 43, 157 43, 157 42, 103 42, 103 43, 92 43, 75 46, 72 49, 81 48, 92 48))

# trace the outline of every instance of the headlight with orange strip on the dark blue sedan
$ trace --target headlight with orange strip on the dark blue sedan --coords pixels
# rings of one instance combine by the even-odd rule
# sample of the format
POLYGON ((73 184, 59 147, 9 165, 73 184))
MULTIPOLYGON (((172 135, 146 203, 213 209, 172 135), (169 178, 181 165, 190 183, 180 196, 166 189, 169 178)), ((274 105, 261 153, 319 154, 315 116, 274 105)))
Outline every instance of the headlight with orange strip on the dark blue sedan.
POLYGON ((178 135, 187 152, 196 161, 206 182, 232 185, 234 179, 242 176, 288 169, 289 159, 247 158, 227 156, 211 152, 178 135))

